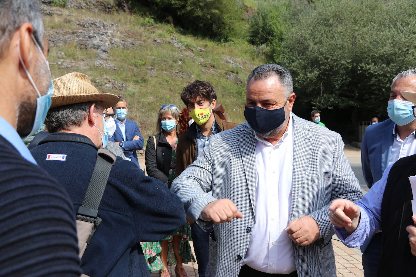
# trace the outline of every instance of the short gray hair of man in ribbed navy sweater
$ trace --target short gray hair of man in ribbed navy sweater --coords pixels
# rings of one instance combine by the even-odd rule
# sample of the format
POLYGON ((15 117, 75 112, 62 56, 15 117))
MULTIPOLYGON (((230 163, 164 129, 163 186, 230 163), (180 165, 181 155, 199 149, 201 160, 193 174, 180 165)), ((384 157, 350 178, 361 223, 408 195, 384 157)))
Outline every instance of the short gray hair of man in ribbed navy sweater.
POLYGON ((0 58, 10 44, 16 29, 32 23, 33 35, 43 50, 43 23, 38 0, 0 0, 0 58))

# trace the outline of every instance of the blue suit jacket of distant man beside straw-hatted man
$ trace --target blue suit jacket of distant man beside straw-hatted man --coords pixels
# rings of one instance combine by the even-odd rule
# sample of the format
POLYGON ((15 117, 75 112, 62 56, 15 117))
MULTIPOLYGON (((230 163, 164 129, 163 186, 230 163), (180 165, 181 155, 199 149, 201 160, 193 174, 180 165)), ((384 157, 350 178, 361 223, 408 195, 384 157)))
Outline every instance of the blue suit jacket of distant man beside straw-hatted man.
POLYGON ((131 161, 137 164, 137 166, 140 168, 139 160, 137 160, 136 150, 143 149, 144 138, 142 137, 140 133, 139 126, 137 126, 137 124, 134 121, 128 120, 126 118, 124 124, 126 125, 125 126, 126 140, 124 140, 123 134, 121 133, 121 130, 117 122, 116 122, 116 131, 114 132, 114 135, 112 137, 109 137, 109 140, 111 140, 112 142, 123 141, 123 147, 121 147, 121 149, 123 150, 124 155, 126 157, 129 157, 131 161), (133 140, 134 136, 139 136, 140 139, 133 140))

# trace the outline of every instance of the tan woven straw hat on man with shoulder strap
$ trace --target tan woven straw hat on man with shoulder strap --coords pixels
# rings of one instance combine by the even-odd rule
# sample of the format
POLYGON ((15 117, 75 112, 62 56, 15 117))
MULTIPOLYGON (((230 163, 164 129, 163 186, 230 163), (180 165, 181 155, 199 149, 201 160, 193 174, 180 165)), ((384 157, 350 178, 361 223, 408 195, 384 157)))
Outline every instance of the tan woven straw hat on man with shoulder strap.
POLYGON ((54 92, 50 108, 88 101, 102 101, 104 108, 110 108, 119 102, 118 96, 99 92, 90 78, 79 72, 65 74, 52 82, 54 92))

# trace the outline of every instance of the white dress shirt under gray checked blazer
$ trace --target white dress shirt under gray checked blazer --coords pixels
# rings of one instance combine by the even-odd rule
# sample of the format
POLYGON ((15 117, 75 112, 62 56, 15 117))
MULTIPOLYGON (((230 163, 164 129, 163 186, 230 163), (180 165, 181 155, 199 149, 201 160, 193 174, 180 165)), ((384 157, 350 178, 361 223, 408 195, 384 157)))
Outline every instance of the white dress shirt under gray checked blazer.
POLYGON ((289 223, 293 171, 293 120, 273 146, 256 138, 256 220, 243 265, 267 273, 296 270, 292 240, 284 230, 289 223))

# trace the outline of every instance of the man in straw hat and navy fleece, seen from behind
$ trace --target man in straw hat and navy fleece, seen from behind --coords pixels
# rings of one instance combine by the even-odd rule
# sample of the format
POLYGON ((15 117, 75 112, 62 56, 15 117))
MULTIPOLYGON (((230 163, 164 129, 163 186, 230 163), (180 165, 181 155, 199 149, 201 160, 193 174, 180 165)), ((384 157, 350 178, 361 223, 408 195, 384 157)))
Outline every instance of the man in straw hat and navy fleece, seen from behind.
MULTIPOLYGON (((75 211, 83 203, 97 150, 107 143, 104 117, 119 101, 100 93, 88 76, 53 80, 45 125, 51 135, 31 150, 40 167, 67 189, 75 211)), ((117 157, 99 204, 102 219, 81 260, 88 276, 149 276, 140 242, 155 242, 185 223, 183 204, 166 184, 117 157)))

